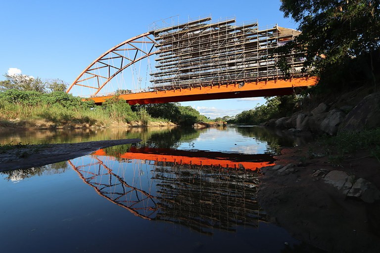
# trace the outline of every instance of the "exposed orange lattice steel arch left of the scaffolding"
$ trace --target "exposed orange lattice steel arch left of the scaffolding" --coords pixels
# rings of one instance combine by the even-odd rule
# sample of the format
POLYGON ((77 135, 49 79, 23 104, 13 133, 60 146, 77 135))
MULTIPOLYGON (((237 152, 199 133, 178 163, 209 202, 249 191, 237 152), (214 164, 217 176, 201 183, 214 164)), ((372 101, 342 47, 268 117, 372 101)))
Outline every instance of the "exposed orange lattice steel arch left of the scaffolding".
POLYGON ((66 90, 66 93, 68 93, 74 85, 83 86, 87 88, 93 88, 96 91, 94 92, 94 96, 107 84, 109 81, 111 81, 112 78, 114 78, 117 74, 121 73, 126 68, 130 67, 132 64, 148 57, 153 54, 156 54, 159 50, 153 50, 155 45, 158 43, 155 42, 153 39, 149 37, 151 33, 143 33, 139 36, 133 37, 129 40, 126 40, 124 42, 121 42, 120 44, 115 45, 111 49, 104 52, 102 55, 100 55, 98 58, 95 59, 76 79, 75 81, 69 86, 69 88, 66 90), (146 38, 146 41, 141 41, 140 39, 146 38), (146 47, 148 50, 142 49, 142 44, 150 44, 149 47, 146 47), (141 45, 141 46, 139 46, 141 45), (124 48, 123 48, 124 46, 124 48), (134 54, 132 57, 126 57, 125 55, 122 55, 119 53, 120 51, 132 51, 134 54), (141 53, 141 56, 138 57, 139 52, 141 53), (121 61, 120 65, 116 66, 116 64, 110 64, 109 62, 106 63, 104 61, 113 61, 114 59, 119 59, 121 61), (97 66, 97 65, 100 66, 97 66), (102 76, 96 72, 99 72, 99 69, 108 68, 108 75, 102 76), (84 84, 85 81, 94 79, 96 80, 95 85, 86 85, 84 84))

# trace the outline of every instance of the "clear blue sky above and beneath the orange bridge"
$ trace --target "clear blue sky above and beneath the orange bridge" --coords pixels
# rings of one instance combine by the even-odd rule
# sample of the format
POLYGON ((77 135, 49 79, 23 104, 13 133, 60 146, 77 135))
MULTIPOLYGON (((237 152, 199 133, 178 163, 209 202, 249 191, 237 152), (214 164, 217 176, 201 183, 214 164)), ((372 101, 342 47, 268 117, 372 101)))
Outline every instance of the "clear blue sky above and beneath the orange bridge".
MULTIPOLYGON (((284 18, 280 5, 280 0, 2 1, 0 73, 17 68, 25 75, 71 84, 109 48, 147 32, 154 21, 177 15, 180 20, 235 16, 238 23, 257 20, 259 26, 277 23, 296 29, 294 21, 284 18)), ((263 102, 263 98, 245 98, 182 104, 215 118, 236 115, 263 102)))

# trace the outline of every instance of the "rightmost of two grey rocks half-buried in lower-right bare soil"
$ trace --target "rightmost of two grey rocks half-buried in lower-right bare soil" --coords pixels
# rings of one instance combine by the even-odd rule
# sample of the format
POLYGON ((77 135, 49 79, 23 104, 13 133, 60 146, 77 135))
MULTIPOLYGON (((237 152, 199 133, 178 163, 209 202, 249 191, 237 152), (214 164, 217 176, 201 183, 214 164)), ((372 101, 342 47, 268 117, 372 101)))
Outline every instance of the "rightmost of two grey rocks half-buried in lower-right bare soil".
POLYGON ((347 197, 356 197, 367 203, 374 203, 380 200, 380 191, 376 186, 366 179, 359 178, 356 180, 347 197))

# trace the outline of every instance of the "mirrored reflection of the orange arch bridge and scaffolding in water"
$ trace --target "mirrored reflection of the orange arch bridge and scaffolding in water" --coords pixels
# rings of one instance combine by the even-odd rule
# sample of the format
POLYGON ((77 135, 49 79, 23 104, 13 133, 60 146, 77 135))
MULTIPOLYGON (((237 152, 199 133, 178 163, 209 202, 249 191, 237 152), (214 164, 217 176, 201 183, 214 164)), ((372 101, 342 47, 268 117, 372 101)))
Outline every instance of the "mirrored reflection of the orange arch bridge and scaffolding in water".
POLYGON ((136 147, 107 151, 68 163, 100 196, 136 216, 205 234, 257 227, 266 220, 256 201, 257 169, 273 163, 270 155, 136 147))

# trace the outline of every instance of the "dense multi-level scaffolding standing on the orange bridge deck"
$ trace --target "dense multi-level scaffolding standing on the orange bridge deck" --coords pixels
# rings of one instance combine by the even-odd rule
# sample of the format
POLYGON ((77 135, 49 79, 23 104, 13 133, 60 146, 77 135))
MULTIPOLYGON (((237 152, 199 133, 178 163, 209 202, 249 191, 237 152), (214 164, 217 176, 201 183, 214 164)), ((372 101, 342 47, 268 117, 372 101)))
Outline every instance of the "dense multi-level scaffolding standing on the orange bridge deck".
MULTIPOLYGON (((236 24, 235 18, 217 23, 211 17, 150 32, 158 49, 150 89, 239 84, 284 78, 276 48, 299 31, 258 22, 236 24)), ((286 56, 292 78, 303 76, 303 58, 286 56)))

